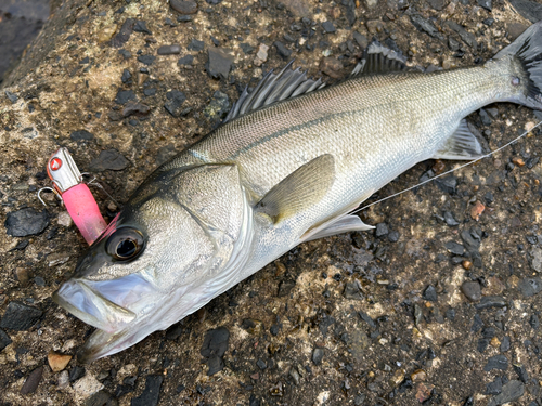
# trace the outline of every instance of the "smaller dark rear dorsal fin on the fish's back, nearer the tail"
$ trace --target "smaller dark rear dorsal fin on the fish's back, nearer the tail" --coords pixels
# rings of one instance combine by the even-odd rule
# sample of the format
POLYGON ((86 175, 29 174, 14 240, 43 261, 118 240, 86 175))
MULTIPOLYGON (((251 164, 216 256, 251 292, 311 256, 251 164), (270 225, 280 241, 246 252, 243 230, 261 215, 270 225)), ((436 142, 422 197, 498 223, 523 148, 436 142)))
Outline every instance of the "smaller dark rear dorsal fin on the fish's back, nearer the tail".
POLYGON ((353 68, 350 76, 377 75, 406 69, 406 57, 400 52, 384 47, 376 39, 373 40, 363 53, 363 58, 353 68))

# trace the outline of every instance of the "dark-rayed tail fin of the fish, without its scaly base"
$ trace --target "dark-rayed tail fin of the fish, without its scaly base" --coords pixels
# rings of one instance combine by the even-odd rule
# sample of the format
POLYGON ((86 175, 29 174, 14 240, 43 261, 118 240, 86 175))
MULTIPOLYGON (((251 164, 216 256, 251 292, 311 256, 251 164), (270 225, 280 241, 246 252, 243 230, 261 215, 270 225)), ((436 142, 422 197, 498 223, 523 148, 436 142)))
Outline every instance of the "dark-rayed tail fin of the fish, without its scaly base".
POLYGON ((542 21, 531 25, 513 43, 501 50, 494 60, 515 56, 527 79, 521 103, 542 110, 542 21))

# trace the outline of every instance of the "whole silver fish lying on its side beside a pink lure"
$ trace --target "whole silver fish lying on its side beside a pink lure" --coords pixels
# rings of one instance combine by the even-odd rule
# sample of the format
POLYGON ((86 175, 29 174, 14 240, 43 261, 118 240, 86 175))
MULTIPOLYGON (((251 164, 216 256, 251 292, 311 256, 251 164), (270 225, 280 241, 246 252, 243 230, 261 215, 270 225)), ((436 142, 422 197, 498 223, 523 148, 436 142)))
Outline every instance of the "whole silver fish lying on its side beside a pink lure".
POLYGON ((53 300, 96 330, 89 363, 196 312, 295 246, 374 228, 352 210, 426 159, 483 155, 465 117, 542 109, 542 22, 483 65, 411 71, 377 41, 332 86, 286 66, 158 167, 53 300))

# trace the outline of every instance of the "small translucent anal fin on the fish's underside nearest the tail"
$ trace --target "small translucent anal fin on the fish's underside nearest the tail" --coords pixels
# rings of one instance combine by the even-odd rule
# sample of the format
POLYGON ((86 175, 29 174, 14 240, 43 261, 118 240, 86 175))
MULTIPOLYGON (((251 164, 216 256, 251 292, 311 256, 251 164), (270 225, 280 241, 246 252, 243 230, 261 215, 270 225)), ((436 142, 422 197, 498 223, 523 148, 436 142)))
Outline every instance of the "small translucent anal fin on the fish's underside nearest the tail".
POLYGON ((473 160, 482 156, 480 142, 463 119, 446 144, 435 154, 435 159, 473 160))

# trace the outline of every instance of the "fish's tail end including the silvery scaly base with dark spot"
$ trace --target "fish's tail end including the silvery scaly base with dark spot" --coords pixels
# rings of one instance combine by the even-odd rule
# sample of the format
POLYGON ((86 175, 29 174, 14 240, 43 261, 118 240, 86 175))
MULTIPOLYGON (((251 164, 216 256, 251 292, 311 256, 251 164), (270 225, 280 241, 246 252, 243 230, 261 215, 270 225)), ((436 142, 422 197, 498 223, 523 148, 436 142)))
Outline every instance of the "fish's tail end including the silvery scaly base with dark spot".
POLYGON ((504 99, 542 110, 542 21, 531 25, 489 64, 506 66, 509 90, 504 99))

